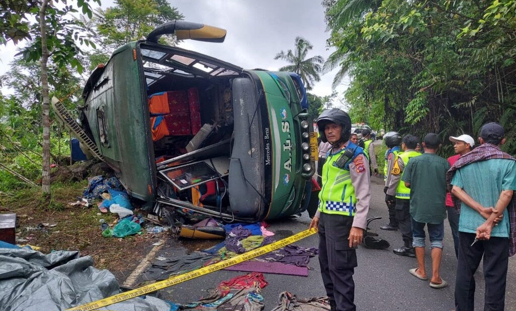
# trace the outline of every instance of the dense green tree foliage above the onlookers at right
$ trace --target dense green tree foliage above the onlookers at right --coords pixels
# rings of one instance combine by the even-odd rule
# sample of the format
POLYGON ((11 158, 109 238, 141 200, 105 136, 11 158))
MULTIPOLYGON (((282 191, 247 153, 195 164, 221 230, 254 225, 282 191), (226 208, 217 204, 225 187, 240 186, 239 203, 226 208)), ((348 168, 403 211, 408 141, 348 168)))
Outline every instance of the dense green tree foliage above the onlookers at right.
POLYGON ((342 20, 339 10, 360 1, 325 2, 337 49, 325 68, 351 77, 351 114, 443 139, 495 120, 507 131, 503 148, 516 152, 516 1, 384 0, 342 20))

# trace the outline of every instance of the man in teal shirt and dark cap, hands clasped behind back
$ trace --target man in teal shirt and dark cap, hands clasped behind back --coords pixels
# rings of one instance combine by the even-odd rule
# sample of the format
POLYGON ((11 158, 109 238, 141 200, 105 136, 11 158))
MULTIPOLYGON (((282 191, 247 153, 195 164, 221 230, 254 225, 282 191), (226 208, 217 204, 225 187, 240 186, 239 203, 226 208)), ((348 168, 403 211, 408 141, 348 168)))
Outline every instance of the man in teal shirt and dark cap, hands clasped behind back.
POLYGON ((486 281, 484 310, 505 308, 508 258, 514 255, 516 247, 516 161, 499 148, 505 143, 504 135, 504 128, 498 123, 483 125, 478 137, 480 146, 460 157, 446 175, 447 182, 453 185, 454 205, 460 211, 457 311, 475 309, 473 275, 482 258, 486 281), (494 226, 499 215, 503 217, 494 226))

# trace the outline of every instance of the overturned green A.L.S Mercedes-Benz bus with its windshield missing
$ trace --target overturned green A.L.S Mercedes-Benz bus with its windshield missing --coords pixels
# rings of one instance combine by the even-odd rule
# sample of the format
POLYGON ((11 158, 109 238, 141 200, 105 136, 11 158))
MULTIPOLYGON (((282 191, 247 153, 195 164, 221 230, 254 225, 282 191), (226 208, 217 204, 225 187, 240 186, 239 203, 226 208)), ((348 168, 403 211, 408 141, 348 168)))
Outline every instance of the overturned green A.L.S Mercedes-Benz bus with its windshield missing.
POLYGON ((171 33, 225 37, 220 28, 166 23, 118 48, 84 88, 80 127, 127 192, 156 212, 225 220, 307 209, 316 143, 299 76, 158 43, 171 33))

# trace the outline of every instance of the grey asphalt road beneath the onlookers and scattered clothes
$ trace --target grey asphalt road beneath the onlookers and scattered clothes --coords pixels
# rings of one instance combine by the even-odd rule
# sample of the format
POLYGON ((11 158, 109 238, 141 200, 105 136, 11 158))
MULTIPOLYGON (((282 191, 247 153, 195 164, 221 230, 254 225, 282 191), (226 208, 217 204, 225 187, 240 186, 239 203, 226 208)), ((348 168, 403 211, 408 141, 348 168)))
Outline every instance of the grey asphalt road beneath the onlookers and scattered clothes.
MULTIPOLYGON (((388 219, 387 208, 384 203, 383 180, 373 178, 372 203, 369 217, 381 216, 383 219, 373 221, 370 228, 380 237, 390 242, 387 250, 370 250, 360 247, 357 251, 359 266, 355 271, 356 283, 355 303, 357 309, 362 311, 436 311, 454 309, 454 287, 457 260, 453 250, 453 240, 447 222, 445 222, 444 252, 441 264, 441 275, 449 286, 443 289, 433 289, 429 281, 416 279, 408 270, 417 267, 415 258, 395 255, 393 248, 401 246, 401 234, 398 231, 383 231, 379 227, 388 219)), ((308 228, 310 218, 305 212, 300 217, 292 217, 270 223, 270 231, 275 232, 276 240, 290 236, 308 228)), ((214 245, 214 241, 184 241, 172 238, 156 256, 173 257, 190 253, 193 250, 202 250, 214 245)), ((298 243, 299 246, 316 247, 317 235, 312 235, 298 243)), ((427 240, 427 245, 429 242, 427 240)), ((431 259, 429 250, 426 254, 427 273, 431 274, 431 259)), ((320 277, 320 269, 317 257, 312 258, 308 277, 294 277, 290 275, 264 274, 269 283, 262 291, 265 298, 265 311, 276 307, 279 294, 282 291, 290 291, 298 297, 325 296, 324 286, 320 277)), ((482 277, 482 264, 475 275, 476 301, 475 310, 483 310, 484 282, 482 277)), ((245 272, 233 272, 219 270, 204 275, 160 292, 159 297, 175 303, 188 303, 203 296, 207 296, 207 289, 215 288, 221 281, 229 280, 245 272)), ((430 276, 430 275, 429 275, 430 276)), ((507 275, 506 310, 516 311, 516 262, 509 259, 509 272, 507 275)))

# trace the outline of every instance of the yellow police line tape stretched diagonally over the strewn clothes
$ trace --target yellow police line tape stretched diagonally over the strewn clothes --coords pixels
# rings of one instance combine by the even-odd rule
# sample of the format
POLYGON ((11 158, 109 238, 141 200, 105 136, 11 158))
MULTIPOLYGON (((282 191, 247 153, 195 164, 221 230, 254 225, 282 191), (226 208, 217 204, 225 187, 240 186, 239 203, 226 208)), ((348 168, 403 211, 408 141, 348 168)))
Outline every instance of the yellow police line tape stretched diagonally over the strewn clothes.
POLYGON ((282 240, 276 241, 274 243, 271 243, 269 245, 262 246, 260 248, 253 249, 247 253, 235 256, 233 258, 229 258, 227 260, 224 260, 222 262, 209 265, 206 267, 202 267, 200 269, 197 269, 195 271, 187 272, 185 274, 177 275, 176 277, 172 277, 170 279, 167 279, 165 281, 156 282, 153 284, 149 284, 146 286, 142 286, 140 288, 136 288, 130 291, 126 291, 123 293, 119 293, 117 295, 107 297, 101 300, 97 300, 94 302, 90 302, 87 304, 83 304, 77 307, 73 307, 70 309, 67 309, 67 311, 88 311, 88 310, 94 310, 101 307, 105 307, 117 302, 121 302, 127 299, 135 298, 141 295, 146 295, 147 293, 163 289, 175 284, 182 283, 184 281, 188 281, 197 277, 200 277, 201 275, 208 274, 220 269, 227 268, 229 266, 233 266, 236 264, 239 264, 241 262, 245 262, 246 260, 250 260, 254 257, 261 256, 263 254, 266 254, 268 252, 271 252, 273 250, 277 250, 279 248, 282 248, 284 246, 287 246, 289 244, 292 244, 296 241, 299 241, 300 239, 303 239, 307 236, 310 236, 314 234, 316 231, 314 229, 312 230, 305 230, 301 231, 297 234, 294 234, 292 236, 289 236, 287 238, 284 238, 282 240))

